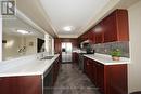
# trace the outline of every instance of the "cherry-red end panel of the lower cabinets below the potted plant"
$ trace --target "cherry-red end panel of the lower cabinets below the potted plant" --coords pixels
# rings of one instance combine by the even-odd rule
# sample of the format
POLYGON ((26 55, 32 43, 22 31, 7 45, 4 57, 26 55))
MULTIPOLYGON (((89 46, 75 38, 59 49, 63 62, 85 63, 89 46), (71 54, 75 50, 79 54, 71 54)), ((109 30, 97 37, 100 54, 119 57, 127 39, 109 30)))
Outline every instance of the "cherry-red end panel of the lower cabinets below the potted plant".
POLYGON ((127 65, 107 66, 108 93, 128 94, 127 65))

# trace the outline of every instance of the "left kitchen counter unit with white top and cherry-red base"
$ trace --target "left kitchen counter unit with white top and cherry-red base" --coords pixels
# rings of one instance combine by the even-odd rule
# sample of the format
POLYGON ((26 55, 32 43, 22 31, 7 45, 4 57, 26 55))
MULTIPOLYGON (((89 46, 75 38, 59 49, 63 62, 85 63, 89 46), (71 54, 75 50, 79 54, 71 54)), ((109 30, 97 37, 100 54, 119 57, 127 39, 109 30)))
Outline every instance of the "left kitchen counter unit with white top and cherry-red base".
POLYGON ((60 63, 60 54, 54 55, 52 59, 28 57, 28 61, 26 58, 13 63, 2 62, 0 94, 43 94, 44 86, 54 85, 60 63))

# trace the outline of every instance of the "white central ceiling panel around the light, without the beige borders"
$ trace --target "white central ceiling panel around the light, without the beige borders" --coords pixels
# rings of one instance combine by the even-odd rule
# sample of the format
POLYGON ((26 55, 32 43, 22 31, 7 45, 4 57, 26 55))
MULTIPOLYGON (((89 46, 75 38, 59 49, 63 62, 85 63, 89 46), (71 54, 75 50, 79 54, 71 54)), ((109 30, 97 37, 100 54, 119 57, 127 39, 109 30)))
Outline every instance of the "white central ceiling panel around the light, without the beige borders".
POLYGON ((80 29, 99 13, 110 0, 40 0, 59 37, 79 36, 80 29), (65 26, 73 26, 65 31, 65 26))

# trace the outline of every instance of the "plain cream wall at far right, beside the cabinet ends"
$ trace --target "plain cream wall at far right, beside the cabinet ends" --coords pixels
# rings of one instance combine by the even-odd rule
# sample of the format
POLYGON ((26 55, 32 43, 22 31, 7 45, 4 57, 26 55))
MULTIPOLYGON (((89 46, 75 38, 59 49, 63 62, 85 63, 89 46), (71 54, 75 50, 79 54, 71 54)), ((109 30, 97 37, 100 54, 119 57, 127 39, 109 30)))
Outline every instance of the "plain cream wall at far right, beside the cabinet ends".
POLYGON ((128 9, 131 64, 128 66, 129 92, 141 91, 141 1, 128 9))

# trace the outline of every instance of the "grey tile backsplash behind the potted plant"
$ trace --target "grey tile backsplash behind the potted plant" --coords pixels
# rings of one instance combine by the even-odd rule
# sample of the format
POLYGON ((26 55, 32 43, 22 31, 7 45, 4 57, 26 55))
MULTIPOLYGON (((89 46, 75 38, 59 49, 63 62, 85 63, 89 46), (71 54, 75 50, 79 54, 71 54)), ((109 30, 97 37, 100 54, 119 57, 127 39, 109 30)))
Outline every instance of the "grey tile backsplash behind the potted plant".
POLYGON ((113 49, 121 50, 123 57, 130 57, 129 55, 129 41, 118 41, 118 42, 108 42, 92 44, 92 48, 95 50, 95 53, 110 54, 113 49))

